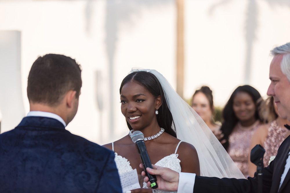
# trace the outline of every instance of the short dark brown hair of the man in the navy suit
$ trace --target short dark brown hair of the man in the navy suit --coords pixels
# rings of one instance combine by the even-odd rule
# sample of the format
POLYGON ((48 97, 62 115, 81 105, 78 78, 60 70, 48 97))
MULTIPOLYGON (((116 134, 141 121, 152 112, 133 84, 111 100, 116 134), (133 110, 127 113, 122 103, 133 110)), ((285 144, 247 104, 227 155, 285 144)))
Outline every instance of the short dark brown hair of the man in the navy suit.
POLYGON ((32 64, 28 75, 27 96, 29 102, 57 106, 70 91, 81 90, 81 67, 64 55, 46 54, 32 64))

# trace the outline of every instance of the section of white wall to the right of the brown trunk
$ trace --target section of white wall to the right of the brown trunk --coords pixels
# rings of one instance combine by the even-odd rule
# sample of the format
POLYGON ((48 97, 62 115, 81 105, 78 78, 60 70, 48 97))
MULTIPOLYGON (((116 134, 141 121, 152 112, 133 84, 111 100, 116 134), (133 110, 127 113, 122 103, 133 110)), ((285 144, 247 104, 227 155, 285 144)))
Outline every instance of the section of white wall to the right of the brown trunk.
POLYGON ((290 1, 185 1, 185 89, 190 98, 207 85, 214 103, 224 106, 244 84, 266 98, 269 52, 290 41, 290 1))

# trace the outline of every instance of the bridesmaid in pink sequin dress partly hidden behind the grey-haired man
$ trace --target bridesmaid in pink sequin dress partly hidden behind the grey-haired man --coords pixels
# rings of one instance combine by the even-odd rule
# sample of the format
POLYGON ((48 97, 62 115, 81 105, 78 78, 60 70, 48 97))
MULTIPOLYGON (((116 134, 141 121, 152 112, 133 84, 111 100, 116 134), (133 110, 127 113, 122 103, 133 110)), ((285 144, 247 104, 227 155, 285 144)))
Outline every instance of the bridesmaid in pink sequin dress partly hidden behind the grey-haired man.
MULTIPOLYGON (((290 131, 284 127, 284 125, 290 125, 290 121, 279 116, 277 105, 275 104, 272 96, 267 99, 265 107, 266 108, 263 108, 262 110, 267 113, 266 118, 268 120, 268 124, 259 126, 253 134, 249 155, 251 155, 251 149, 256 144, 262 145, 265 149, 263 160, 264 167, 267 167, 269 166, 270 157, 276 156, 282 141, 289 136, 290 131)), ((250 159, 248 161, 249 176, 253 177, 257 170, 257 166, 255 166, 250 159)))

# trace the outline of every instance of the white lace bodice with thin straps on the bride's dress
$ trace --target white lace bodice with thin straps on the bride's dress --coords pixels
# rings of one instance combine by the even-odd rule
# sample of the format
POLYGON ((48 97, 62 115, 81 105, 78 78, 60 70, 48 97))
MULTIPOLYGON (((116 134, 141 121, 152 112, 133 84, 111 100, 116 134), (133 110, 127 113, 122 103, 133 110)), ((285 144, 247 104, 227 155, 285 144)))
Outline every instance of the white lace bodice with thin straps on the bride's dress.
MULTIPOLYGON (((170 168, 171 170, 174 170, 176 172, 181 172, 181 166, 180 166, 180 159, 178 159, 178 154, 176 154, 178 146, 180 145, 182 141, 180 141, 175 149, 175 153, 168 155, 159 161, 155 163, 156 166, 162 166, 166 168, 170 168)), ((114 151, 114 143, 112 143, 112 149, 114 151)), ((119 174, 123 174, 125 172, 132 171, 133 168, 130 165, 130 161, 128 159, 118 155, 115 152, 115 163, 118 169, 119 174)), ((146 183, 143 183, 143 188, 146 187, 146 183)), ((163 190, 153 190, 154 193, 167 193, 166 191, 163 190)))

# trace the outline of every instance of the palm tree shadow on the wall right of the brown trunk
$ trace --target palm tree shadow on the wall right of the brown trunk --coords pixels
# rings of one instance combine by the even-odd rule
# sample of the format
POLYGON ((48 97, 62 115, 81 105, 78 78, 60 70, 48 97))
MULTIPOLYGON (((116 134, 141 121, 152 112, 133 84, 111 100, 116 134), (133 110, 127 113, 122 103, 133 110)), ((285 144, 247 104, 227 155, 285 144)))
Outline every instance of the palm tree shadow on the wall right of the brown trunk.
MULTIPOLYGON (((213 14, 213 11, 222 5, 230 3, 232 0, 222 0, 211 6, 209 14, 213 14)), ((248 7, 246 11, 246 20, 244 21, 244 34, 246 41, 246 56, 245 56, 245 70, 244 70, 244 84, 249 84, 251 79, 251 65, 252 65, 252 51, 254 41, 257 39, 256 30, 259 27, 258 23, 258 7, 257 0, 247 0, 248 7)), ((262 1, 262 0, 261 0, 262 1)), ((264 0, 269 3, 271 8, 275 6, 288 6, 290 8, 289 1, 283 0, 264 0)))

